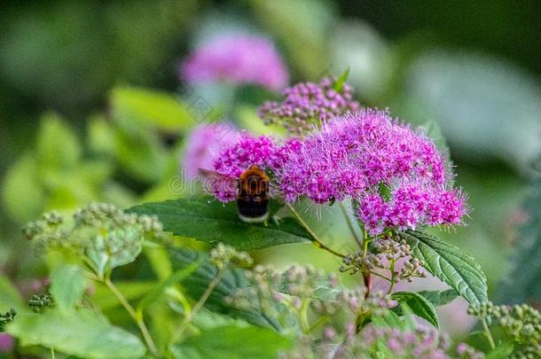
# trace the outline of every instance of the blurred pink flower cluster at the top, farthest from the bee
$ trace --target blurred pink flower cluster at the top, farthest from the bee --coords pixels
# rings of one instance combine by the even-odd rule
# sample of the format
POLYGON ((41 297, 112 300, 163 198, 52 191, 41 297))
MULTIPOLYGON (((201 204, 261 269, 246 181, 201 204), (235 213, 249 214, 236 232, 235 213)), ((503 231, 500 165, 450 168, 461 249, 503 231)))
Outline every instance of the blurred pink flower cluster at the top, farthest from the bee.
POLYGON ((271 90, 287 85, 286 66, 264 37, 227 35, 196 49, 180 68, 187 82, 227 81, 258 84, 271 90))

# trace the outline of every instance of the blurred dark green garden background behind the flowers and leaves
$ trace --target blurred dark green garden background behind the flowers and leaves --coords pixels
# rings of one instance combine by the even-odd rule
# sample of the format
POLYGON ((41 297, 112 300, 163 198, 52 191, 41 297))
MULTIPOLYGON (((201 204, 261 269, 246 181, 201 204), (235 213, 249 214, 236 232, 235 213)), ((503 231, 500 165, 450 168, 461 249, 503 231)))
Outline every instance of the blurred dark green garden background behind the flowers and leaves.
MULTIPOLYGON (((169 184, 195 122, 178 64, 229 29, 269 36, 291 83, 349 67, 363 105, 441 129, 473 208, 443 236, 474 254, 494 294, 541 153, 540 17, 541 3, 506 0, 4 3, 0 270, 22 290, 41 276, 20 227, 45 210, 182 195, 169 184)), ((200 91, 220 111, 223 98, 200 91)), ((258 131, 249 92, 229 114, 258 131)), ((320 258, 294 248, 259 257, 320 258)))

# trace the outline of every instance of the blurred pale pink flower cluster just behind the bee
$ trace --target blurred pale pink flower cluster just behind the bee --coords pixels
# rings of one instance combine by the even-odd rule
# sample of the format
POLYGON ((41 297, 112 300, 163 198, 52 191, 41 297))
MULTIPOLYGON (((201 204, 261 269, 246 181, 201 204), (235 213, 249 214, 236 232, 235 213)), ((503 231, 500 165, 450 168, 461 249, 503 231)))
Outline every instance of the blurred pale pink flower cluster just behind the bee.
POLYGON ((188 178, 200 168, 213 169, 213 159, 226 146, 234 144, 239 130, 230 123, 201 124, 192 130, 184 147, 183 166, 188 178))

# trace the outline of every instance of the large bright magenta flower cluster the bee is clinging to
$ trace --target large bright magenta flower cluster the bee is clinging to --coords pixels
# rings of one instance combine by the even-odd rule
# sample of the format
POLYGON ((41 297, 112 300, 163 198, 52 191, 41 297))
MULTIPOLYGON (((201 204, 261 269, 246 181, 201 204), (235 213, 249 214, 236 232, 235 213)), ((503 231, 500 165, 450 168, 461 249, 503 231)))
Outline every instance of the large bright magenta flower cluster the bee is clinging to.
POLYGON ((452 188, 451 168, 435 144, 387 111, 347 113, 282 145, 243 134, 214 162, 216 171, 234 177, 251 165, 272 172, 287 202, 354 199, 372 236, 385 228, 459 224, 467 214, 465 196, 452 188))

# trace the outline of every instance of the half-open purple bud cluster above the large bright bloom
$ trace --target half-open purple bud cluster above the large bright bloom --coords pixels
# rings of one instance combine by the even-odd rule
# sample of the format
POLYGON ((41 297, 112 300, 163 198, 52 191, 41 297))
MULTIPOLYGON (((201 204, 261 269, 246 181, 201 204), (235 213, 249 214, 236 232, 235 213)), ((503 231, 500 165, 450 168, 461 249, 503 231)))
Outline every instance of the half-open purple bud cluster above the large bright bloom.
POLYGON ((324 77, 321 82, 302 82, 284 90, 285 99, 267 101, 259 109, 265 123, 280 123, 294 135, 302 136, 321 123, 338 115, 356 112, 360 105, 353 100, 353 89, 343 83, 335 89, 336 80, 324 77))

